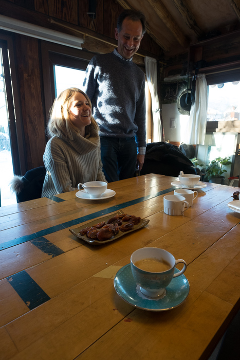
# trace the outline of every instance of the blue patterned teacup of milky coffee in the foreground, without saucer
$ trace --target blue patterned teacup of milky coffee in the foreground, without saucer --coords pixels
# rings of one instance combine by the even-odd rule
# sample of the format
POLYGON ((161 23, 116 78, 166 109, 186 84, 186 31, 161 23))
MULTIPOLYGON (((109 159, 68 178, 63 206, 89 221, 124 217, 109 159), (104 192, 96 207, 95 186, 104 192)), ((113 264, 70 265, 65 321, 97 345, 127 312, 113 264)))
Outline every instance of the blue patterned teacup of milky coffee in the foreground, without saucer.
POLYGON ((131 256, 133 277, 140 286, 141 293, 147 297, 163 295, 165 287, 173 278, 184 273, 186 268, 187 264, 184 260, 175 260, 172 254, 158 247, 142 247, 134 251, 131 256), (174 274, 178 263, 183 263, 183 268, 174 274))

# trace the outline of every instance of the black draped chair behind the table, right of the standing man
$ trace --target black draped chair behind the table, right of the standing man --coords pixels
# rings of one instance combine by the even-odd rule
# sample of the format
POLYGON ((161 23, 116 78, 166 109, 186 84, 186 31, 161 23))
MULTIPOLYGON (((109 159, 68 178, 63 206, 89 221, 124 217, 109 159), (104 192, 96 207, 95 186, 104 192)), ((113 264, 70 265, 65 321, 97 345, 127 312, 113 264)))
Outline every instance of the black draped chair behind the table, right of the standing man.
POLYGON ((141 175, 155 173, 178 177, 180 171, 201 176, 200 169, 177 146, 163 141, 147 144, 141 175))

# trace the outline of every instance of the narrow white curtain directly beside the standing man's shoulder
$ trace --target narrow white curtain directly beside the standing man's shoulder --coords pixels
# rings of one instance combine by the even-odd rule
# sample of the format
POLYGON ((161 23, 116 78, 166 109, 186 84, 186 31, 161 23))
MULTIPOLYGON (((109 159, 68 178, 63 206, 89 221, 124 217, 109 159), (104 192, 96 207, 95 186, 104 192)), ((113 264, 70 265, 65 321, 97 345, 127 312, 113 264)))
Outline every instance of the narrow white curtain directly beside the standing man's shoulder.
POLYGON ((162 125, 160 119, 160 106, 157 95, 157 60, 145 56, 145 68, 147 84, 149 85, 152 98, 153 114, 153 141, 162 141, 162 125))

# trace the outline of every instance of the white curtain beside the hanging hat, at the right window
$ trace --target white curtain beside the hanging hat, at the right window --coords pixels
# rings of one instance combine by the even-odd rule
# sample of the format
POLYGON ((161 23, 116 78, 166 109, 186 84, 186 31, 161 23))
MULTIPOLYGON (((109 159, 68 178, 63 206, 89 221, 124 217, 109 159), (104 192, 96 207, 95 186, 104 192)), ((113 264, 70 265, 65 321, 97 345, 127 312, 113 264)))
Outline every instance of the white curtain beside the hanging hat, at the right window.
POLYGON ((204 145, 208 113, 208 86, 205 74, 198 74, 195 101, 191 106, 184 142, 204 145))

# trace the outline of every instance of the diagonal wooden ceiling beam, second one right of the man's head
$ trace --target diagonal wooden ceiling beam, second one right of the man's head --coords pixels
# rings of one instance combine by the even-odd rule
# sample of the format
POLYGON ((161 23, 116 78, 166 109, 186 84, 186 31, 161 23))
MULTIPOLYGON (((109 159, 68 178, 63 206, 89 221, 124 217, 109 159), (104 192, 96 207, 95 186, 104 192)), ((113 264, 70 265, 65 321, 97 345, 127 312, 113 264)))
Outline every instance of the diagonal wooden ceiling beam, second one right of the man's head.
POLYGON ((189 45, 188 38, 182 33, 181 28, 177 25, 173 16, 170 14, 168 9, 161 3, 160 0, 147 0, 150 6, 154 9, 156 14, 160 17, 163 23, 169 28, 172 32, 178 43, 186 48, 189 45))

